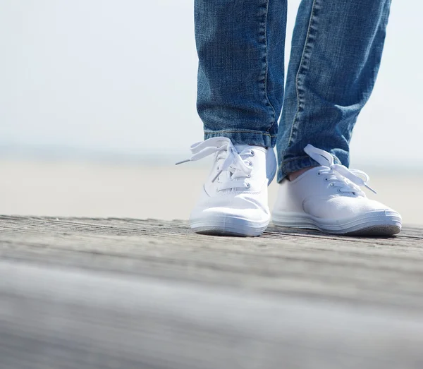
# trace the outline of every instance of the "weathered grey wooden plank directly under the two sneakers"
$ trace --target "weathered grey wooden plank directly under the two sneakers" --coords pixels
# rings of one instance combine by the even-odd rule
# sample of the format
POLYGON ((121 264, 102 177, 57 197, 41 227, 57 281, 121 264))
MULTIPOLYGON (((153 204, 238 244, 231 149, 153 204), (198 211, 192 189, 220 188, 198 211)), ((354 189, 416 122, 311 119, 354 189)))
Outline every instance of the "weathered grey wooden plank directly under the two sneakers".
POLYGON ((3 258, 423 308, 419 229, 381 239, 272 228, 252 239, 199 236, 183 222, 0 220, 3 258))

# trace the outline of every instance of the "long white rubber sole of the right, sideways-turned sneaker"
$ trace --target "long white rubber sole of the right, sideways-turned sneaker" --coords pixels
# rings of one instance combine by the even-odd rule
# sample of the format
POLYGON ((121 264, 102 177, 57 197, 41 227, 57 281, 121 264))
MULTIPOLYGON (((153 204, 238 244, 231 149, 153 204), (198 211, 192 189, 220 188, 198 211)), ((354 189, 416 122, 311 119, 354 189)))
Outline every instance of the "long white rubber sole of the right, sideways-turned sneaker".
POLYGON ((402 226, 400 214, 387 210, 375 210, 342 220, 320 219, 302 213, 274 212, 272 221, 275 226, 316 229, 327 234, 345 236, 393 236, 400 232, 402 226))

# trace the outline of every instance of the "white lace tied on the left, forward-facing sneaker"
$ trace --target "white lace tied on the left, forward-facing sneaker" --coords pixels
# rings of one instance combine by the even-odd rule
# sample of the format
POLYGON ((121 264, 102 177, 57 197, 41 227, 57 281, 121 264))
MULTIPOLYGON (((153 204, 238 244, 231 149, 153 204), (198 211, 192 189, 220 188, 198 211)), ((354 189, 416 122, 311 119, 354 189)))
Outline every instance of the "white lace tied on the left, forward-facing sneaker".
POLYGON ((192 152, 190 159, 177 162, 176 165, 195 162, 215 154, 216 160, 223 160, 223 163, 219 165, 217 174, 212 179, 212 182, 216 181, 223 172, 228 171, 228 176, 226 176, 225 181, 219 183, 217 190, 250 188, 250 183, 245 181, 245 179, 250 178, 252 166, 251 162, 248 162, 243 157, 254 156, 252 150, 243 150, 243 152, 238 153, 232 141, 226 137, 209 138, 191 145, 190 149, 192 152))

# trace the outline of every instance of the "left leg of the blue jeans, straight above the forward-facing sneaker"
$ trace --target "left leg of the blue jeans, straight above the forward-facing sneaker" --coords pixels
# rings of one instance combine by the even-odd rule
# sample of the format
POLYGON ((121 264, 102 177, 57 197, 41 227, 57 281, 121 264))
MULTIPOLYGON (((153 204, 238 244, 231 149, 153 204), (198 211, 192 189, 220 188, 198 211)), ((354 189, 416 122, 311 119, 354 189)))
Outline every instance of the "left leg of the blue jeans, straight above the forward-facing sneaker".
POLYGON ((195 0, 197 111, 204 139, 274 147, 287 0, 195 0))

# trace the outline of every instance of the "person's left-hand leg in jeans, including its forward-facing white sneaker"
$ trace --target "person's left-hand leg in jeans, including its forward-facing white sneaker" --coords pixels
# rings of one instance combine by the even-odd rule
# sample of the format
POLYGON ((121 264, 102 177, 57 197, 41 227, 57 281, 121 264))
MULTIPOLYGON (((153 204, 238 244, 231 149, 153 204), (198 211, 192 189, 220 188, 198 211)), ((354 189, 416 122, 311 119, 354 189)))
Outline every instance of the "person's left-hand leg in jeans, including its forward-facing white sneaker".
POLYGON ((286 0, 195 0, 197 111, 214 155, 190 214, 199 233, 258 236, 270 222, 267 186, 283 101, 286 0))

